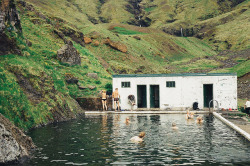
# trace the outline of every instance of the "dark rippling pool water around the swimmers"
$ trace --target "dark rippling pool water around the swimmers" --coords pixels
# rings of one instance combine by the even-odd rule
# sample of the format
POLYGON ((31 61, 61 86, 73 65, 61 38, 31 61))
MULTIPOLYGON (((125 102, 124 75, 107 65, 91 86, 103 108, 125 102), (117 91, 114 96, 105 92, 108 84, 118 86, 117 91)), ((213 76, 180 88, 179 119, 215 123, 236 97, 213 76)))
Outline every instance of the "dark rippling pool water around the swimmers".
POLYGON ((202 116, 201 125, 183 114, 85 115, 48 125, 28 133, 38 149, 23 165, 250 165, 250 143, 202 116), (141 131, 144 142, 132 143, 141 131))

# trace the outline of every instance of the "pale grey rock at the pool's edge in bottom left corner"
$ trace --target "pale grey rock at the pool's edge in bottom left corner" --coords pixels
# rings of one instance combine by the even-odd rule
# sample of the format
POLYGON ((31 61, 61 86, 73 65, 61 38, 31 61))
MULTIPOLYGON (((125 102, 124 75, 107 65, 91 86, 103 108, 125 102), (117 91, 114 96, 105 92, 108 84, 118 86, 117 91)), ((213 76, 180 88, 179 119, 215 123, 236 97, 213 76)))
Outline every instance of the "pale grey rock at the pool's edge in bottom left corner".
POLYGON ((34 149, 32 139, 0 114, 0 165, 18 162, 28 157, 34 149))

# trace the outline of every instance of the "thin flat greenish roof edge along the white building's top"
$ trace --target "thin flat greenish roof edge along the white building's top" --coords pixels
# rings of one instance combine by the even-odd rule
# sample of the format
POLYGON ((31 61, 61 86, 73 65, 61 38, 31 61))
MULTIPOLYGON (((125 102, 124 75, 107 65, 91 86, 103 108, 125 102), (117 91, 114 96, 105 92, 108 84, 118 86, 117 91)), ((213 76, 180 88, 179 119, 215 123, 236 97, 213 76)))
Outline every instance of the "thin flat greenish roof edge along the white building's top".
POLYGON ((124 78, 124 77, 190 77, 190 76, 237 76, 237 73, 117 74, 117 75, 113 75, 113 78, 124 78))

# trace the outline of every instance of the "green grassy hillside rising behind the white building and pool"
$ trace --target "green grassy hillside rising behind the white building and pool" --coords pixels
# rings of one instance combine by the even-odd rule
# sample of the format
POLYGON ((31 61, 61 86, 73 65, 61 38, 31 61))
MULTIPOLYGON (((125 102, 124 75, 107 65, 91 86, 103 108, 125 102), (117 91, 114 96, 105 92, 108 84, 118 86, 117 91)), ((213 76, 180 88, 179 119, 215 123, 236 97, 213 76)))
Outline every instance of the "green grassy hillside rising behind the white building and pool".
POLYGON ((110 88, 112 74, 238 72, 242 76, 250 71, 245 21, 249 1, 25 2, 16 2, 22 33, 5 31, 22 56, 0 56, 0 113, 24 129, 73 118, 81 112, 75 99, 96 97, 101 89, 110 88), (140 23, 149 27, 129 25, 140 23), (176 31, 180 26, 184 37, 176 31), (190 27, 200 31, 189 33, 190 27), (92 42, 83 46, 81 33, 92 42), (127 52, 114 49, 107 38, 127 52), (57 60, 64 40, 73 42, 81 65, 57 60), (230 49, 234 51, 219 54, 230 49), (97 73, 98 78, 88 73, 97 73), (79 80, 78 85, 67 83, 68 76, 79 80))

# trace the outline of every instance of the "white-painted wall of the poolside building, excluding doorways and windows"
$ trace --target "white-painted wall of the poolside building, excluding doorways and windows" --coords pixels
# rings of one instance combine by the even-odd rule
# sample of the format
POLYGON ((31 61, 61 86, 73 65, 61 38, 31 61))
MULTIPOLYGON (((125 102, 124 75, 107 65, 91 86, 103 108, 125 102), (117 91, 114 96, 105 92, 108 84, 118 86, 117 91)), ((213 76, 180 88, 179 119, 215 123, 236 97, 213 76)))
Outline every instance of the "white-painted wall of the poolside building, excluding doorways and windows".
MULTIPOLYGON (((137 85, 147 86, 147 108, 150 109, 150 85, 159 85, 160 109, 185 110, 193 102, 203 108, 203 84, 213 84, 213 98, 219 102, 219 108, 237 109, 237 76, 171 76, 171 77, 114 77, 113 90, 118 88, 121 96, 121 108, 131 109, 128 103, 130 94, 137 103, 137 85), (166 81, 175 81, 175 88, 166 87, 166 81), (130 82, 130 88, 122 88, 121 82, 130 82)), ((214 102, 214 107, 217 104, 214 102)), ((137 105, 134 106, 137 109, 137 105)))

